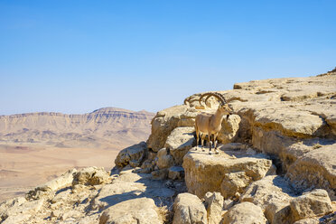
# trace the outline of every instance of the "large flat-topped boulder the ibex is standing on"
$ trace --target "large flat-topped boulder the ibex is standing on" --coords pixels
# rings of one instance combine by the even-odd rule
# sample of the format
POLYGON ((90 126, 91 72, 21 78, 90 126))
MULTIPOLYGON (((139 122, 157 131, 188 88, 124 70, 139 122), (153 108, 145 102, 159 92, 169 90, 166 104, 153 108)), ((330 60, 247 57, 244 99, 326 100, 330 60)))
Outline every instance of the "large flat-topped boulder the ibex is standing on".
POLYGON ((228 182, 228 180, 225 180, 226 174, 244 172, 248 180, 257 181, 266 175, 271 166, 272 161, 265 158, 233 158, 224 153, 210 155, 193 150, 186 154, 183 159, 188 191, 200 198, 208 191, 220 191, 223 196, 232 195, 231 189, 241 187, 240 182, 238 182, 239 186, 237 188, 232 187, 235 182, 230 182, 229 188, 221 188, 223 181, 228 182), (227 190, 229 192, 226 192, 227 190))

